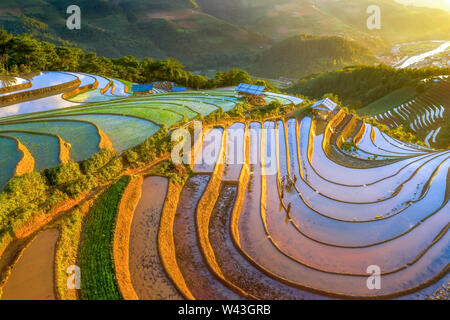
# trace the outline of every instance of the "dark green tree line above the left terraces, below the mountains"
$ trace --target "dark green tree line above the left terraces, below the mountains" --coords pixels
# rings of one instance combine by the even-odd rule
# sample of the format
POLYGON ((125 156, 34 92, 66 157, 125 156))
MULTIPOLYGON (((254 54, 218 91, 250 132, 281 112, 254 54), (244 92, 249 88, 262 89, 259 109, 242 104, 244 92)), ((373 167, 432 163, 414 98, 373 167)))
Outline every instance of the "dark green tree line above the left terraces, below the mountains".
POLYGON ((173 81, 193 89, 235 86, 239 83, 265 85, 274 89, 270 83, 254 81, 248 72, 237 68, 218 72, 209 79, 186 71, 175 58, 108 58, 75 47, 39 41, 29 34, 14 36, 0 29, 0 74, 18 75, 37 71, 85 72, 135 83, 173 81))

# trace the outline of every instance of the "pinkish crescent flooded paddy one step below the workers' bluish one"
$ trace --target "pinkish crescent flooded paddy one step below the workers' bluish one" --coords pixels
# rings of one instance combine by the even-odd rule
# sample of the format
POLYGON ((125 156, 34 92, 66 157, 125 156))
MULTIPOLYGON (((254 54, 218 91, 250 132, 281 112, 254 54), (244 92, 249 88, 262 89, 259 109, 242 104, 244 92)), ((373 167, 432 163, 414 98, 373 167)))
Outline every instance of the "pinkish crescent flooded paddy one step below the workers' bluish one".
MULTIPOLYGON (((282 126, 282 123, 281 123, 282 126)), ((293 143, 295 144, 295 143, 293 143)), ((280 173, 286 175, 286 154, 283 132, 280 133, 280 173)), ((291 148, 289 148, 291 150, 291 148)), ((267 176, 267 190, 276 190, 276 180, 267 176)), ((277 243, 278 248, 296 261, 332 273, 351 273, 365 275, 371 264, 380 266, 383 273, 395 271, 413 261, 419 253, 430 245, 431 241, 441 232, 446 224, 443 213, 430 218, 426 224, 412 230, 404 237, 385 244, 369 248, 336 248, 317 243, 303 236, 292 227, 284 223, 283 212, 280 212, 279 201, 269 191, 267 195, 267 222, 269 233, 277 243), (272 201, 269 201, 271 199, 272 201), (280 214, 281 213, 281 214, 280 214), (311 253, 314 254, 311 254, 311 253)), ((295 190, 285 190, 286 199, 295 196, 295 190)))

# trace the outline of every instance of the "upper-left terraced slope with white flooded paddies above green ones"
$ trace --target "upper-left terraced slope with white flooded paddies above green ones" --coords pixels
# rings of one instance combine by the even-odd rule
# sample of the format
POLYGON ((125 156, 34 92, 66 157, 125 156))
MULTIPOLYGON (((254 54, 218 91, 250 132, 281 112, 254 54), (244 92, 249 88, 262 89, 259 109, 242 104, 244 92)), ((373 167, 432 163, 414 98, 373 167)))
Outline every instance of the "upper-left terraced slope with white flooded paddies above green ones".
MULTIPOLYGON (((38 170, 85 160, 102 148, 122 152, 162 126, 171 127, 218 109, 230 111, 243 101, 233 90, 156 90, 152 96, 132 97, 119 80, 81 73, 45 72, 28 78, 28 88, 0 94, 0 103, 4 99, 0 135, 18 138, 28 146, 38 160, 38 170)), ((301 101, 279 94, 268 94, 266 100, 301 101)), ((6 153, 0 154, 0 159, 11 167, 0 179, 3 188, 19 162, 6 153)))

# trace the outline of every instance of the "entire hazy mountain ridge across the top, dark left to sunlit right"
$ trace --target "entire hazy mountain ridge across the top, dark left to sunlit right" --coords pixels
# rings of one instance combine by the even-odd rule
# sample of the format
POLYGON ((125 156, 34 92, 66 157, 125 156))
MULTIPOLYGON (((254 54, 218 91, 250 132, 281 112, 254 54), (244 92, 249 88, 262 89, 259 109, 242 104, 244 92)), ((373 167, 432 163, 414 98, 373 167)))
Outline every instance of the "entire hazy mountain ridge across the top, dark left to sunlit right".
POLYGON ((175 57, 191 70, 245 67, 298 34, 345 36, 381 55, 393 43, 444 39, 450 13, 395 0, 78 0, 82 29, 68 30, 73 0, 2 0, 0 27, 108 57, 175 57), (379 5, 382 29, 368 30, 379 5))

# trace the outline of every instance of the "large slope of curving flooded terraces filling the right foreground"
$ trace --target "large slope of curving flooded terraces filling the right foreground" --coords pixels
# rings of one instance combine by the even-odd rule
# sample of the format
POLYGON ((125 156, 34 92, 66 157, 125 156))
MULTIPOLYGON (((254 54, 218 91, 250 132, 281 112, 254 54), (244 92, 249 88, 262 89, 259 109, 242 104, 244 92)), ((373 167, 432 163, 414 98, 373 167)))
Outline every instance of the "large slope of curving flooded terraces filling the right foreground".
POLYGON ((153 263, 196 299, 417 299, 447 284, 449 152, 354 120, 206 130, 201 152, 219 142, 217 162, 195 164, 183 189, 169 187, 161 214, 171 224, 161 225, 162 261, 153 263), (372 265, 379 290, 367 286, 372 265))

